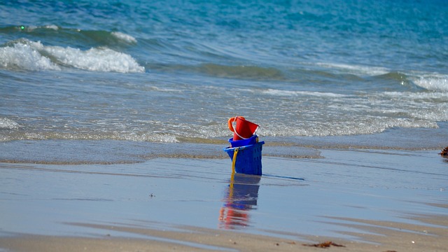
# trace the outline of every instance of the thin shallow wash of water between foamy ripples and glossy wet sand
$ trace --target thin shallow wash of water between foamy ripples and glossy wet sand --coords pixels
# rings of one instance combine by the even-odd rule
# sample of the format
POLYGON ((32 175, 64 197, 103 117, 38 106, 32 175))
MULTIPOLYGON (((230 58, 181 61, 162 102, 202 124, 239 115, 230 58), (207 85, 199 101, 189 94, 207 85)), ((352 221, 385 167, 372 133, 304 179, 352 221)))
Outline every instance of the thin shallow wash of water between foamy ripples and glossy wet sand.
MULTIPOLYGON (((448 146, 448 123, 437 129, 393 128, 377 134, 326 137, 263 137, 263 156, 324 158, 324 150, 438 151, 448 146), (409 137, 412 136, 412 137, 409 137)), ((173 136, 174 137, 174 136, 173 136)), ((174 137, 176 139, 176 137, 174 137)), ((113 139, 29 139, 1 141, 0 162, 43 165, 113 165, 142 163, 154 158, 226 159, 228 138, 179 142, 113 139)), ((437 154, 436 153, 436 154, 437 154)))

